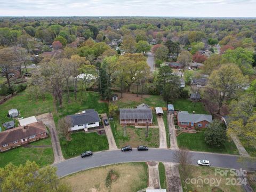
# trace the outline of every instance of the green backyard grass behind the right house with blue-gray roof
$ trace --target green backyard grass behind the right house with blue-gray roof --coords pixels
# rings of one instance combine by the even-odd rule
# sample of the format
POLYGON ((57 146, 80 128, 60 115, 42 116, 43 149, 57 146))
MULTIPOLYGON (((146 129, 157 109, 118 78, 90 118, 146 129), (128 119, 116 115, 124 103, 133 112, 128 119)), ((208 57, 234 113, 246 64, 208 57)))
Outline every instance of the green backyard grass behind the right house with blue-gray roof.
POLYGON ((196 114, 209 114, 205 110, 203 103, 192 102, 188 99, 177 99, 174 101, 173 106, 175 110, 188 111, 188 113, 195 111, 196 114))

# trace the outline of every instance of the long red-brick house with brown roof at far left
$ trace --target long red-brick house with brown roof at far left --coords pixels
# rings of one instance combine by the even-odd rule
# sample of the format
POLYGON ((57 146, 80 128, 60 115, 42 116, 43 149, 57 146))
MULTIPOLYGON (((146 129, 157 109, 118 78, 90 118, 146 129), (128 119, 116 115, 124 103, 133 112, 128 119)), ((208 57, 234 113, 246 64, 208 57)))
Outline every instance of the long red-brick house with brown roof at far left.
POLYGON ((6 151, 46 137, 47 130, 42 121, 15 127, 0 132, 0 151, 6 151))

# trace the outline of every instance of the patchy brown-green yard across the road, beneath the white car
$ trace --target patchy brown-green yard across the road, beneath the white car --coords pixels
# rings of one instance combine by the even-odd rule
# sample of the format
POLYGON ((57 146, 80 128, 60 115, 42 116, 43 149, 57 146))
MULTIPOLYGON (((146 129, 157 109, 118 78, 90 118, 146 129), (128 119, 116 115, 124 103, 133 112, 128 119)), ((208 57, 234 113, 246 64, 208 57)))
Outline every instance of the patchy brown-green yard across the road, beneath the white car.
POLYGON ((183 191, 197 191, 197 192, 205 192, 205 191, 240 192, 240 191, 244 191, 242 186, 227 185, 229 179, 232 179, 232 180, 235 179, 235 181, 238 182, 238 180, 236 180, 237 178, 235 176, 231 176, 230 173, 228 173, 228 175, 225 175, 225 176, 221 176, 220 174, 215 175, 215 171, 214 171, 213 167, 192 166, 191 169, 192 170, 187 179, 187 183, 185 182, 185 178, 182 178, 182 174, 180 174, 183 191), (200 181, 198 178, 202 178, 203 181, 205 181, 205 182, 202 182, 202 185, 200 183, 193 184, 194 182, 193 182, 193 180, 191 180, 193 178, 196 181, 200 181), (212 181, 212 185, 211 185, 211 183, 208 183, 207 180, 212 181), (220 183, 219 186, 218 186, 217 180, 220 183), (215 181, 215 183, 213 183, 213 181, 215 181))

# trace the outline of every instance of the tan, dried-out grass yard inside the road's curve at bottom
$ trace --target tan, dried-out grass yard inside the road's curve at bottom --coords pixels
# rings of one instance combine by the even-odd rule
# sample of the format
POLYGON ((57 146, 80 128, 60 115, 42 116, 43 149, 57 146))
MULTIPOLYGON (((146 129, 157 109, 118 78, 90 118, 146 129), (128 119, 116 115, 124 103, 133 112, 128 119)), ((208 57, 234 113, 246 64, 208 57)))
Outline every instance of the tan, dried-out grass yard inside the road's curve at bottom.
POLYGON ((72 191, 112 191, 134 192, 146 188, 148 183, 148 167, 146 163, 124 163, 97 167, 68 175, 61 179, 68 183, 72 191), (110 185, 106 180, 110 171, 114 172, 110 177, 110 185))

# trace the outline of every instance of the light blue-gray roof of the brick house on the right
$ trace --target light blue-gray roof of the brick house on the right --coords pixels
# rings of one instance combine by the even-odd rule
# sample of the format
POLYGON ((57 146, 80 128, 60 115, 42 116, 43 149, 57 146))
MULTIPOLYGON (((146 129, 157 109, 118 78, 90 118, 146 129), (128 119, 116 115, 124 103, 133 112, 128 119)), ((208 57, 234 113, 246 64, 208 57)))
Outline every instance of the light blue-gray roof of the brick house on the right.
POLYGON ((212 122, 211 115, 178 113, 179 122, 198 123, 202 121, 212 122))

